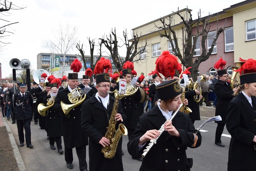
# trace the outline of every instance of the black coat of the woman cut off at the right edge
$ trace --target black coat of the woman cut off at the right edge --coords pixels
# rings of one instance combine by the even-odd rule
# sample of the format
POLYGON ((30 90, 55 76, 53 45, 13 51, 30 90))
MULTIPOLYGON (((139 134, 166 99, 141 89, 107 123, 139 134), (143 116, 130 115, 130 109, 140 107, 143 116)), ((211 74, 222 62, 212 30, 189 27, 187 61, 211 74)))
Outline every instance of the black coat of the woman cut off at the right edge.
MULTIPOLYGON (((254 109, 255 97, 252 98, 254 109)), ((227 130, 231 135, 229 146, 229 171, 255 170, 256 143, 252 140, 256 135, 256 113, 246 99, 239 93, 230 103, 227 113, 227 130)))

